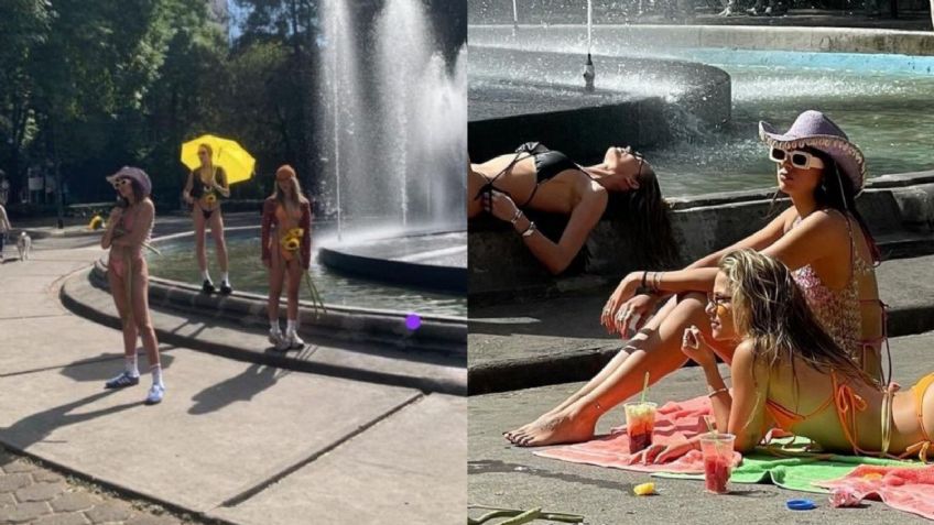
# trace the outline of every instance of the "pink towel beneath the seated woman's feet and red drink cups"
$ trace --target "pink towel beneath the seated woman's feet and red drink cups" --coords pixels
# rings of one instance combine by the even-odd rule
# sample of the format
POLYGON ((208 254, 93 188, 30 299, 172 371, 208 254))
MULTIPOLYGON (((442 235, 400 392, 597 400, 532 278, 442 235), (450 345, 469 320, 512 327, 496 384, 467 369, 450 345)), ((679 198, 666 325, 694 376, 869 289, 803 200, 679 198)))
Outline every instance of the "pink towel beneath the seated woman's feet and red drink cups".
MULTIPOLYGON (((704 416, 710 415, 710 400, 706 395, 682 402, 669 402, 655 414, 655 431, 652 441, 673 445, 707 431, 704 416)), ((610 430, 609 436, 597 437, 590 441, 553 447, 534 452, 543 458, 560 459, 573 463, 596 464, 639 472, 681 472, 685 474, 704 473, 704 459, 699 450, 692 450, 674 461, 662 464, 629 464, 629 436, 626 428, 610 430)), ((739 452, 734 452, 734 464, 739 464, 739 452)))

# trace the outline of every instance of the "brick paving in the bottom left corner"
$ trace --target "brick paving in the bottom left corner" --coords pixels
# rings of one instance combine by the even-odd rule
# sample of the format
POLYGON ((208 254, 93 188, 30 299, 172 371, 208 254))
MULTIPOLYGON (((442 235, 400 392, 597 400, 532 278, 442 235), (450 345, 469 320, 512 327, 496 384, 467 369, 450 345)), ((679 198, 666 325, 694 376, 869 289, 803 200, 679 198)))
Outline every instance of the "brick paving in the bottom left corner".
POLYGON ((0 523, 35 525, 208 524, 180 517, 36 464, 0 447, 0 523))

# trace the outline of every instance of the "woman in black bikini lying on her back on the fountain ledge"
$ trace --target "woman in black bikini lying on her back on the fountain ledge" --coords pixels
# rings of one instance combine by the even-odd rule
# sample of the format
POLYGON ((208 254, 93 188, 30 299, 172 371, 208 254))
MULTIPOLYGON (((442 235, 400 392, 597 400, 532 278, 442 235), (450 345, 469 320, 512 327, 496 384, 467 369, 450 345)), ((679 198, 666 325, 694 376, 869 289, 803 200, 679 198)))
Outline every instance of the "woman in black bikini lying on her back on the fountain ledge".
POLYGON ((532 254, 554 275, 564 272, 610 208, 630 220, 627 231, 649 259, 674 259, 667 206, 655 172, 628 147, 610 147, 604 162, 582 166, 541 143, 523 144, 515 153, 470 164, 467 218, 482 211, 510 222, 532 254), (568 217, 557 242, 542 234, 522 210, 568 217))

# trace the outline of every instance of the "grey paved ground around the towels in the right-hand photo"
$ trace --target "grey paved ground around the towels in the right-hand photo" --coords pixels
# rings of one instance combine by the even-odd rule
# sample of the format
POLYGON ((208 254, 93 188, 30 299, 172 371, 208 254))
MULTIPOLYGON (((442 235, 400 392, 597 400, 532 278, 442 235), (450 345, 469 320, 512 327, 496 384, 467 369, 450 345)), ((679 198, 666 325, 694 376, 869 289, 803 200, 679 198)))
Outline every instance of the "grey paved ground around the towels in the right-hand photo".
MULTIPOLYGON (((894 379, 912 384, 934 370, 931 349, 934 332, 895 338, 894 379), (919 367, 919 363, 924 363, 919 367)), ((725 370, 726 371, 726 370, 725 370)), ((469 503, 511 508, 544 507, 546 511, 583 514, 590 525, 622 523, 930 523, 872 502, 861 508, 830 508, 826 496, 765 484, 734 484, 726 496, 704 492, 703 483, 688 480, 650 479, 648 474, 539 458, 530 449, 511 447, 501 436, 553 407, 582 383, 529 389, 469 398, 469 503), (653 480, 660 493, 632 495, 632 486, 653 480), (793 513, 786 500, 808 497, 818 508, 793 513)), ((682 369, 652 387, 652 401, 683 400, 706 393, 696 368, 682 369)), ((615 408, 599 425, 606 433, 625 422, 615 408)), ((471 511, 470 515, 478 515, 471 511)), ((536 522, 537 523, 537 522, 536 522)))

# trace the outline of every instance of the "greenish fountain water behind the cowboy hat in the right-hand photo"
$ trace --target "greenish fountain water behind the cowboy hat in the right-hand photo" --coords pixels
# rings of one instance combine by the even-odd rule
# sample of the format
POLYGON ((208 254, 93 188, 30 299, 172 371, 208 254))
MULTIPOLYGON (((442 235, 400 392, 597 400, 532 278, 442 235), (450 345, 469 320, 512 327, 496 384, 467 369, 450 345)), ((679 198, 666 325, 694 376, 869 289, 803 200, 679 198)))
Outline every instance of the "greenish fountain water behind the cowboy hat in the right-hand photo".
MULTIPOLYGON (((846 55, 786 52, 726 52, 725 50, 636 50, 617 30, 605 29, 595 37, 595 53, 610 56, 676 58, 719 67, 731 77, 731 121, 721 130, 677 129, 675 141, 644 149, 659 173, 666 195, 697 195, 712 192, 773 187, 774 164, 758 138, 758 122, 765 120, 788 129, 806 109, 824 111, 862 149, 869 177, 934 168, 934 75, 900 70, 906 57, 894 55, 846 55), (834 65, 828 57, 839 57, 834 65), (783 61, 790 65, 784 65, 783 61), (802 66, 800 64, 816 65, 802 66), (768 65, 765 65, 768 63, 768 65), (797 64, 797 65, 795 65, 797 64), (879 69, 886 69, 881 72, 879 69)), ((471 45, 511 50, 568 53, 586 48, 586 28, 523 28, 511 30, 473 28, 471 45)), ((643 43, 643 45, 648 45, 643 43)), ((651 45, 649 45, 651 47, 651 45)), ((470 89, 495 86, 497 79, 524 89, 521 78, 533 84, 546 81, 566 86, 576 97, 582 86, 580 68, 535 70, 533 61, 515 64, 470 62, 470 89), (477 84, 475 85, 475 79, 477 84)), ((616 72, 597 70, 598 89, 629 96, 660 96, 677 110, 677 86, 645 81, 640 75, 620 78, 616 72)), ((557 92, 557 91, 552 91, 557 92)), ((513 92, 513 95, 515 95, 513 92)), ((616 99, 616 97, 613 97, 616 99)), ((686 119, 689 122, 689 119, 686 119)), ((549 144, 561 149, 561 144, 549 144)), ((608 145, 601 144, 600 147, 608 145)), ((578 160, 591 162, 596 160, 578 160)))

